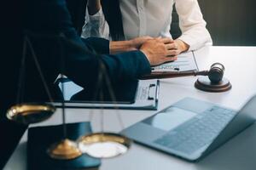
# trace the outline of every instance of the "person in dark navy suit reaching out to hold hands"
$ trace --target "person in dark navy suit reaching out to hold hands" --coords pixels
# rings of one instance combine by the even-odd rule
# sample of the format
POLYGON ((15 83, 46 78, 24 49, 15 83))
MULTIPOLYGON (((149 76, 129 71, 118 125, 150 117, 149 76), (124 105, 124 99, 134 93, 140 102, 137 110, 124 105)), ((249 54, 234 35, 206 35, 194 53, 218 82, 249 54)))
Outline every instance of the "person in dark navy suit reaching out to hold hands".
MULTIPOLYGON (((4 42, 2 53, 5 58, 0 63, 0 73, 4 80, 0 87, 0 167, 8 161, 26 130, 26 126, 9 122, 5 116, 7 109, 15 105, 17 91, 20 90, 17 84, 24 37, 32 42, 52 94, 55 93, 53 82, 60 73, 82 87, 95 90, 101 63, 106 67, 111 82, 118 83, 149 74, 150 65, 173 60, 169 50, 172 42, 165 38, 134 41, 141 43, 137 50, 131 48, 129 42, 109 42, 96 37, 81 39, 73 28, 65 0, 9 2, 6 8, 13 4, 15 8, 9 10, 4 16, 7 19, 3 20, 6 21, 4 26, 9 36, 1 39, 4 42), (130 48, 132 51, 121 53, 130 48)), ((23 101, 48 100, 31 53, 30 50, 26 58, 23 101)))

